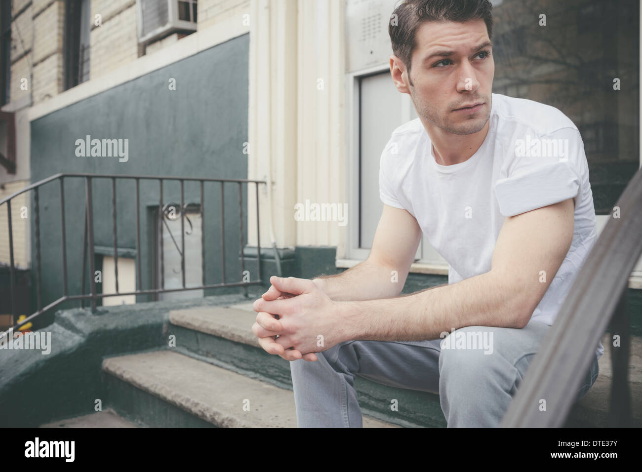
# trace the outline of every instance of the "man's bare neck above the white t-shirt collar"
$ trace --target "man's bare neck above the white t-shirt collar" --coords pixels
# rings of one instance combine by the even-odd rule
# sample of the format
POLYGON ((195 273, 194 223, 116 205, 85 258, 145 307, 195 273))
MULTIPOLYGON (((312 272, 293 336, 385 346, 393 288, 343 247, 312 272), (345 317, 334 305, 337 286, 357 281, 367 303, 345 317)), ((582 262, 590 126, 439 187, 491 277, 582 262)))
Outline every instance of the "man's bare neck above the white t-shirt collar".
MULTIPOLYGON (((423 121, 423 120, 422 120, 423 121)), ((457 135, 437 128, 431 123, 424 123, 433 146, 435 162, 442 166, 451 166, 467 161, 482 146, 488 134, 490 119, 476 133, 457 135), (428 126, 426 126, 428 124, 428 126)))

